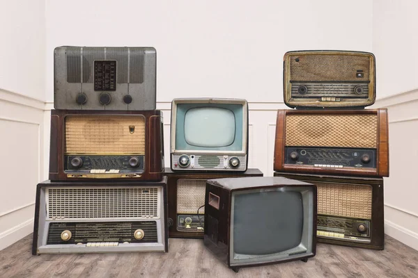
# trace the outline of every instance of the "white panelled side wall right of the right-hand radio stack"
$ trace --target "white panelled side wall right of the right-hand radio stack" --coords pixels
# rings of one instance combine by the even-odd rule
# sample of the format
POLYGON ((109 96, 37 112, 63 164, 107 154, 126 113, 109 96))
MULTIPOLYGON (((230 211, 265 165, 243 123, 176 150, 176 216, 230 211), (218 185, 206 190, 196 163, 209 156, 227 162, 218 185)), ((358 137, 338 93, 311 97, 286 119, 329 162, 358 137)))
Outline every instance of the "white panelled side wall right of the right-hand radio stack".
POLYGON ((389 109, 385 232, 418 250, 418 1, 373 1, 376 107, 389 109))

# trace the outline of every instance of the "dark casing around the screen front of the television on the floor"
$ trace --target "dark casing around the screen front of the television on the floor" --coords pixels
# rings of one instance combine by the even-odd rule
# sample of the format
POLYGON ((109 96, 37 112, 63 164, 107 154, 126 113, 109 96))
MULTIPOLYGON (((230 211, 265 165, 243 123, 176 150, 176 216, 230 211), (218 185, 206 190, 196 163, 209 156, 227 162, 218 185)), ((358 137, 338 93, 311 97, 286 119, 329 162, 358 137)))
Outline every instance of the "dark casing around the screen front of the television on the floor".
MULTIPOLYGON (((304 257, 285 259, 277 262, 270 263, 254 263, 249 265, 231 265, 230 261, 230 234, 231 234, 231 197, 232 193, 235 191, 241 190, 257 190, 261 188, 281 188, 289 185, 279 184, 274 186, 257 186, 257 187, 242 187, 242 188, 227 188, 224 186, 219 186, 215 184, 216 181, 210 181, 206 183, 206 198, 205 198, 205 219, 208 219, 209 215, 215 215, 214 218, 218 220, 218 234, 217 234, 217 243, 212 242, 210 235, 208 234, 208 221, 205 221, 205 235, 203 238, 203 243, 208 247, 208 249, 215 254, 221 261, 226 263, 229 268, 233 271, 238 272, 240 268, 259 266, 259 265, 270 265, 274 263, 284 263, 287 261, 304 261, 307 262, 309 258, 315 256, 316 254, 316 222, 317 214, 313 215, 313 233, 312 233, 312 253, 304 257), (219 196, 219 210, 210 206, 208 204, 208 195, 209 193, 219 196)), ((314 202, 313 208, 314 212, 317 211, 317 189, 316 186, 309 183, 300 183, 293 184, 292 187, 311 187, 314 192, 314 202)))

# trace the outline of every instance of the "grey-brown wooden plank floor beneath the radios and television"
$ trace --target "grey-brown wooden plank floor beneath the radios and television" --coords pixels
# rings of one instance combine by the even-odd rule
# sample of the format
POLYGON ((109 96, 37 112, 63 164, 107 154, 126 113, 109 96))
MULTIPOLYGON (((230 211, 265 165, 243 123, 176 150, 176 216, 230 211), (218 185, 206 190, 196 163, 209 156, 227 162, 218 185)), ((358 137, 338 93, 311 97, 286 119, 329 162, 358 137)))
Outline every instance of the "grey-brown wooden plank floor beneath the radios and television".
POLYGON ((31 255, 32 236, 0 251, 0 277, 418 277, 418 251, 386 237, 385 251, 318 244, 307 263, 241 268, 218 261, 203 240, 171 238, 168 253, 31 255))

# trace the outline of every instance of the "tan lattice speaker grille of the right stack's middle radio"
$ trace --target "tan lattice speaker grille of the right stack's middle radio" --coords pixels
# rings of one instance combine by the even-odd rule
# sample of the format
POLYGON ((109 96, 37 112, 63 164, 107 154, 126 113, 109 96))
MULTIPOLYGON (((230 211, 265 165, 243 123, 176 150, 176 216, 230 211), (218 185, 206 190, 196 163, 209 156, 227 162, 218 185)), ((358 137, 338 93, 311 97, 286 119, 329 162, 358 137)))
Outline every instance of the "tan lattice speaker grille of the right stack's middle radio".
POLYGON ((377 115, 287 115, 286 146, 376 148, 377 115))

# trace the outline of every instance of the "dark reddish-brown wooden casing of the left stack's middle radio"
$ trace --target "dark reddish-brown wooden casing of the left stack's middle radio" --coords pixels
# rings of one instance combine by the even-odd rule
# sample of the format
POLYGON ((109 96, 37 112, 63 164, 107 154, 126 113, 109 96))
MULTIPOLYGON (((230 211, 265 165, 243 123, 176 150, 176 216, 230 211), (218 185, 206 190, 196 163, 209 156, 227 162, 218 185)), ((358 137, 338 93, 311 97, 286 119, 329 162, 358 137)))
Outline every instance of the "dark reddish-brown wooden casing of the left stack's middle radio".
POLYGON ((49 149, 49 179, 52 181, 160 181, 164 174, 162 112, 155 111, 51 111, 51 142, 49 149), (140 177, 123 179, 91 179, 67 177, 64 170, 65 117, 68 115, 144 115, 145 117, 145 158, 144 172, 140 177))

